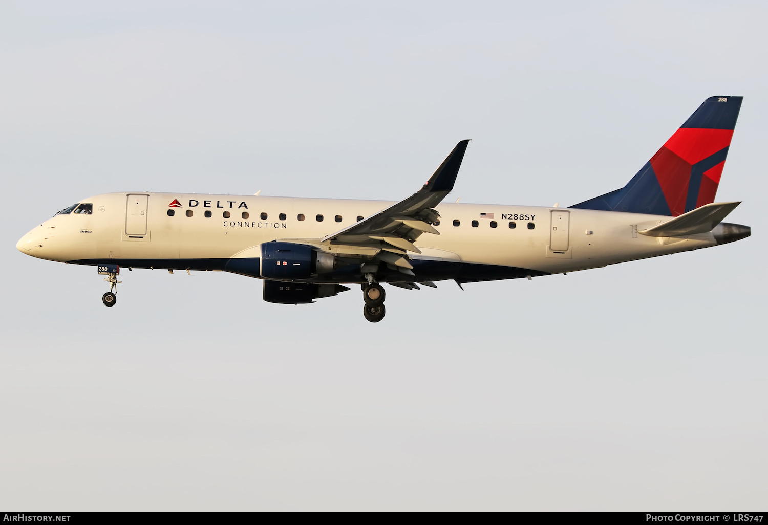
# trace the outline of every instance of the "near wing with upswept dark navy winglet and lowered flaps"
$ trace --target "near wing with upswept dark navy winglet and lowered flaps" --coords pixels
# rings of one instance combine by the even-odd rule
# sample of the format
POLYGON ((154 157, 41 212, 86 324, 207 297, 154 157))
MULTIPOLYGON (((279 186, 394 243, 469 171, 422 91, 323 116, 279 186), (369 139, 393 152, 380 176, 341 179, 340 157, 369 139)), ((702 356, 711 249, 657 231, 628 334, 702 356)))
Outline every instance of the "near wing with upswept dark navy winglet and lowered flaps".
POLYGON ((376 259, 398 266, 404 271, 412 269, 406 252, 421 253, 414 245, 422 233, 440 233, 432 226, 439 213, 432 209, 453 190, 458 168, 462 165, 469 140, 462 140, 440 164, 421 190, 386 210, 320 239, 320 243, 379 248, 376 259))

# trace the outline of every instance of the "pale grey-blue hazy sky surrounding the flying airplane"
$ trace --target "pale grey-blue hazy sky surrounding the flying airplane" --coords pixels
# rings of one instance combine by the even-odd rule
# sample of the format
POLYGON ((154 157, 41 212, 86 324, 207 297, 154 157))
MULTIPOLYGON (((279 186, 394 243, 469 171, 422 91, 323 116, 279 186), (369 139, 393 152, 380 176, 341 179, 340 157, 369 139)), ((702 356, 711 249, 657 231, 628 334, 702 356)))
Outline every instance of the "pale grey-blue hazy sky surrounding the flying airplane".
POLYGON ((0 3, 0 506, 763 508, 762 2, 0 3), (23 256, 122 190, 449 200, 624 185, 706 98, 744 102, 727 246, 406 292, 362 318, 260 282, 23 256))

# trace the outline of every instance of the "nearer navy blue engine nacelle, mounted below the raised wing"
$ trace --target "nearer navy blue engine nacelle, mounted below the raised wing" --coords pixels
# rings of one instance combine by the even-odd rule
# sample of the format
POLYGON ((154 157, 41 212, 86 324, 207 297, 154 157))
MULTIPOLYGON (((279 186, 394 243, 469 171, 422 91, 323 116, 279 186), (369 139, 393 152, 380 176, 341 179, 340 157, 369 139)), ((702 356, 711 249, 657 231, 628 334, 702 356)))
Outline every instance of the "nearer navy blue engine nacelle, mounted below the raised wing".
MULTIPOLYGON (((261 245, 260 273, 264 279, 310 279, 333 271, 334 262, 335 257, 330 253, 306 244, 272 241, 261 245)), ((266 299, 266 288, 264 294, 266 299)))

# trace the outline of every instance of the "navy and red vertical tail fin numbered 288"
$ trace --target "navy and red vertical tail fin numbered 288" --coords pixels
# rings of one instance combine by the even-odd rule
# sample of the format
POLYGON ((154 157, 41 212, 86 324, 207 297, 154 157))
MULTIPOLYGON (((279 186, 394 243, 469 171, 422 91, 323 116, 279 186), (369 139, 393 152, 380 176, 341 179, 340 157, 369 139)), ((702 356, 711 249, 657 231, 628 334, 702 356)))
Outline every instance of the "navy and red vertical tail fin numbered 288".
POLYGON ((621 190, 571 208, 679 216, 713 203, 743 97, 710 97, 621 190))

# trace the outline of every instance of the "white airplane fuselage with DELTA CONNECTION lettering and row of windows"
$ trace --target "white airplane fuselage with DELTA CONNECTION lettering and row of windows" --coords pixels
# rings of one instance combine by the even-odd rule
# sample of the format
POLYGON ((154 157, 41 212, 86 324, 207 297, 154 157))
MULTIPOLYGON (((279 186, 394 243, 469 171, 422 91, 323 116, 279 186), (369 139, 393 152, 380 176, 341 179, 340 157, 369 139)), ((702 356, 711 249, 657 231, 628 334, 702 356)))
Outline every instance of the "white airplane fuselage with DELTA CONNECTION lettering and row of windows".
MULTIPOLYGON (((81 203, 91 203, 91 213, 54 216, 22 237, 18 248, 62 263, 223 270, 258 277, 262 243, 322 238, 394 204, 150 192, 106 193, 81 203), (174 201, 177 205, 170 207, 174 201)), ((415 277, 392 272, 383 282, 541 276, 731 240, 722 225, 684 237, 638 235, 638 230, 669 220, 644 213, 471 203, 440 203, 437 210, 439 235, 420 236, 415 246, 421 253, 411 254, 415 277)), ((333 244, 326 249, 333 255, 338 251, 333 244)), ((359 265, 348 266, 353 265, 305 280, 366 282, 359 265)))

